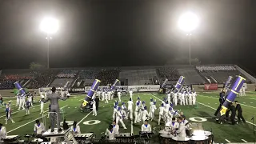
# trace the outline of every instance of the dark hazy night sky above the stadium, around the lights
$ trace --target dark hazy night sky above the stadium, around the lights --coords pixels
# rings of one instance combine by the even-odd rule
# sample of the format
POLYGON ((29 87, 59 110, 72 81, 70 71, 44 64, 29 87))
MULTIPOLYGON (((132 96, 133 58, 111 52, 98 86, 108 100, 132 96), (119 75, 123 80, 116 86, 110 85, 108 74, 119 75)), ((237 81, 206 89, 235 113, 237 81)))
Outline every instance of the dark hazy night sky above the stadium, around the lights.
POLYGON ((256 73, 255 0, 0 0, 0 68, 46 63, 42 18, 58 18, 50 67, 164 65, 189 56, 178 18, 200 18, 191 57, 234 63, 256 73))

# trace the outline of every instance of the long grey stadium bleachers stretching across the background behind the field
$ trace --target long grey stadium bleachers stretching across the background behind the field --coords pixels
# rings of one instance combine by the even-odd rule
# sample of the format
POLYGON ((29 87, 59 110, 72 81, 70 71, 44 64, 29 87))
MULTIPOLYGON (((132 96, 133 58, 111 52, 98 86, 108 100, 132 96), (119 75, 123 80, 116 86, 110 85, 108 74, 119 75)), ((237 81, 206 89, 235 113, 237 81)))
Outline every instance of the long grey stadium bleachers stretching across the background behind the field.
MULTIPOLYGON (((240 68, 241 69, 241 68, 240 68)), ((254 82, 234 65, 209 66, 148 66, 122 68, 50 69, 50 70, 2 70, 0 89, 14 89, 19 81, 26 88, 46 86, 68 86, 82 88, 91 86, 95 78, 101 86, 110 86, 116 78, 122 85, 154 85, 168 78, 167 84, 177 82, 179 76, 186 78, 186 84, 223 83, 228 76, 242 75, 246 82, 254 82), (68 83, 68 85, 66 85, 68 83)))

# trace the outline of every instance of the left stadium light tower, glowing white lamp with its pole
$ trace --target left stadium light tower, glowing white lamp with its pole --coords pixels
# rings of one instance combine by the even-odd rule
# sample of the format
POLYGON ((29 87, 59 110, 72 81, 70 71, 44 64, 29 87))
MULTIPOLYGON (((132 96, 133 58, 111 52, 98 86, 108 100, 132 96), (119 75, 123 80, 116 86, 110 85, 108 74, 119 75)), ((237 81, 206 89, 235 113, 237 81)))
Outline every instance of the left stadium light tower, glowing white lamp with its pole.
POLYGON ((49 52, 50 52, 50 34, 54 34, 58 31, 58 20, 55 18, 44 18, 40 24, 40 30, 46 33, 46 40, 47 40, 47 68, 49 69, 49 52))

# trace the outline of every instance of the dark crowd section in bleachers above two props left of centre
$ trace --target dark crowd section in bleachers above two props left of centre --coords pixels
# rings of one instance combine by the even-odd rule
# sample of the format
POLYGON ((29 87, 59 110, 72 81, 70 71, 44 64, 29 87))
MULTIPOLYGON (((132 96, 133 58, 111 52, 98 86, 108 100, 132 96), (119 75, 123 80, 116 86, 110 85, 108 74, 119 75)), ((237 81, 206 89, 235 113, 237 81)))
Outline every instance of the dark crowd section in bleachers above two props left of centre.
POLYGON ((118 78, 118 75, 120 73, 120 70, 101 70, 96 75, 96 78, 100 79, 101 86, 108 86, 110 84, 113 84, 115 79, 118 78))

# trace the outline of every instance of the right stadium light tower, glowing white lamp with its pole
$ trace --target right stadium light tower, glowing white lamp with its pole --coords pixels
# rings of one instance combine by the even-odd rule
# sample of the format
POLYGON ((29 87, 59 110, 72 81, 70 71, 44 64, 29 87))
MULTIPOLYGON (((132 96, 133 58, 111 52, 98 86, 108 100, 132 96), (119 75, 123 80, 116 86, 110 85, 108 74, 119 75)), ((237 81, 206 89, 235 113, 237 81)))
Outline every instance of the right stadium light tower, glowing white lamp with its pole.
MULTIPOLYGON (((192 36, 192 31, 196 29, 199 25, 198 16, 192 12, 187 12, 182 14, 178 20, 178 26, 180 29, 186 32, 186 35, 189 37, 189 41, 192 36)), ((190 51, 191 51, 191 41, 190 41, 190 51)), ((190 52, 190 65, 191 65, 191 52, 190 52)))

